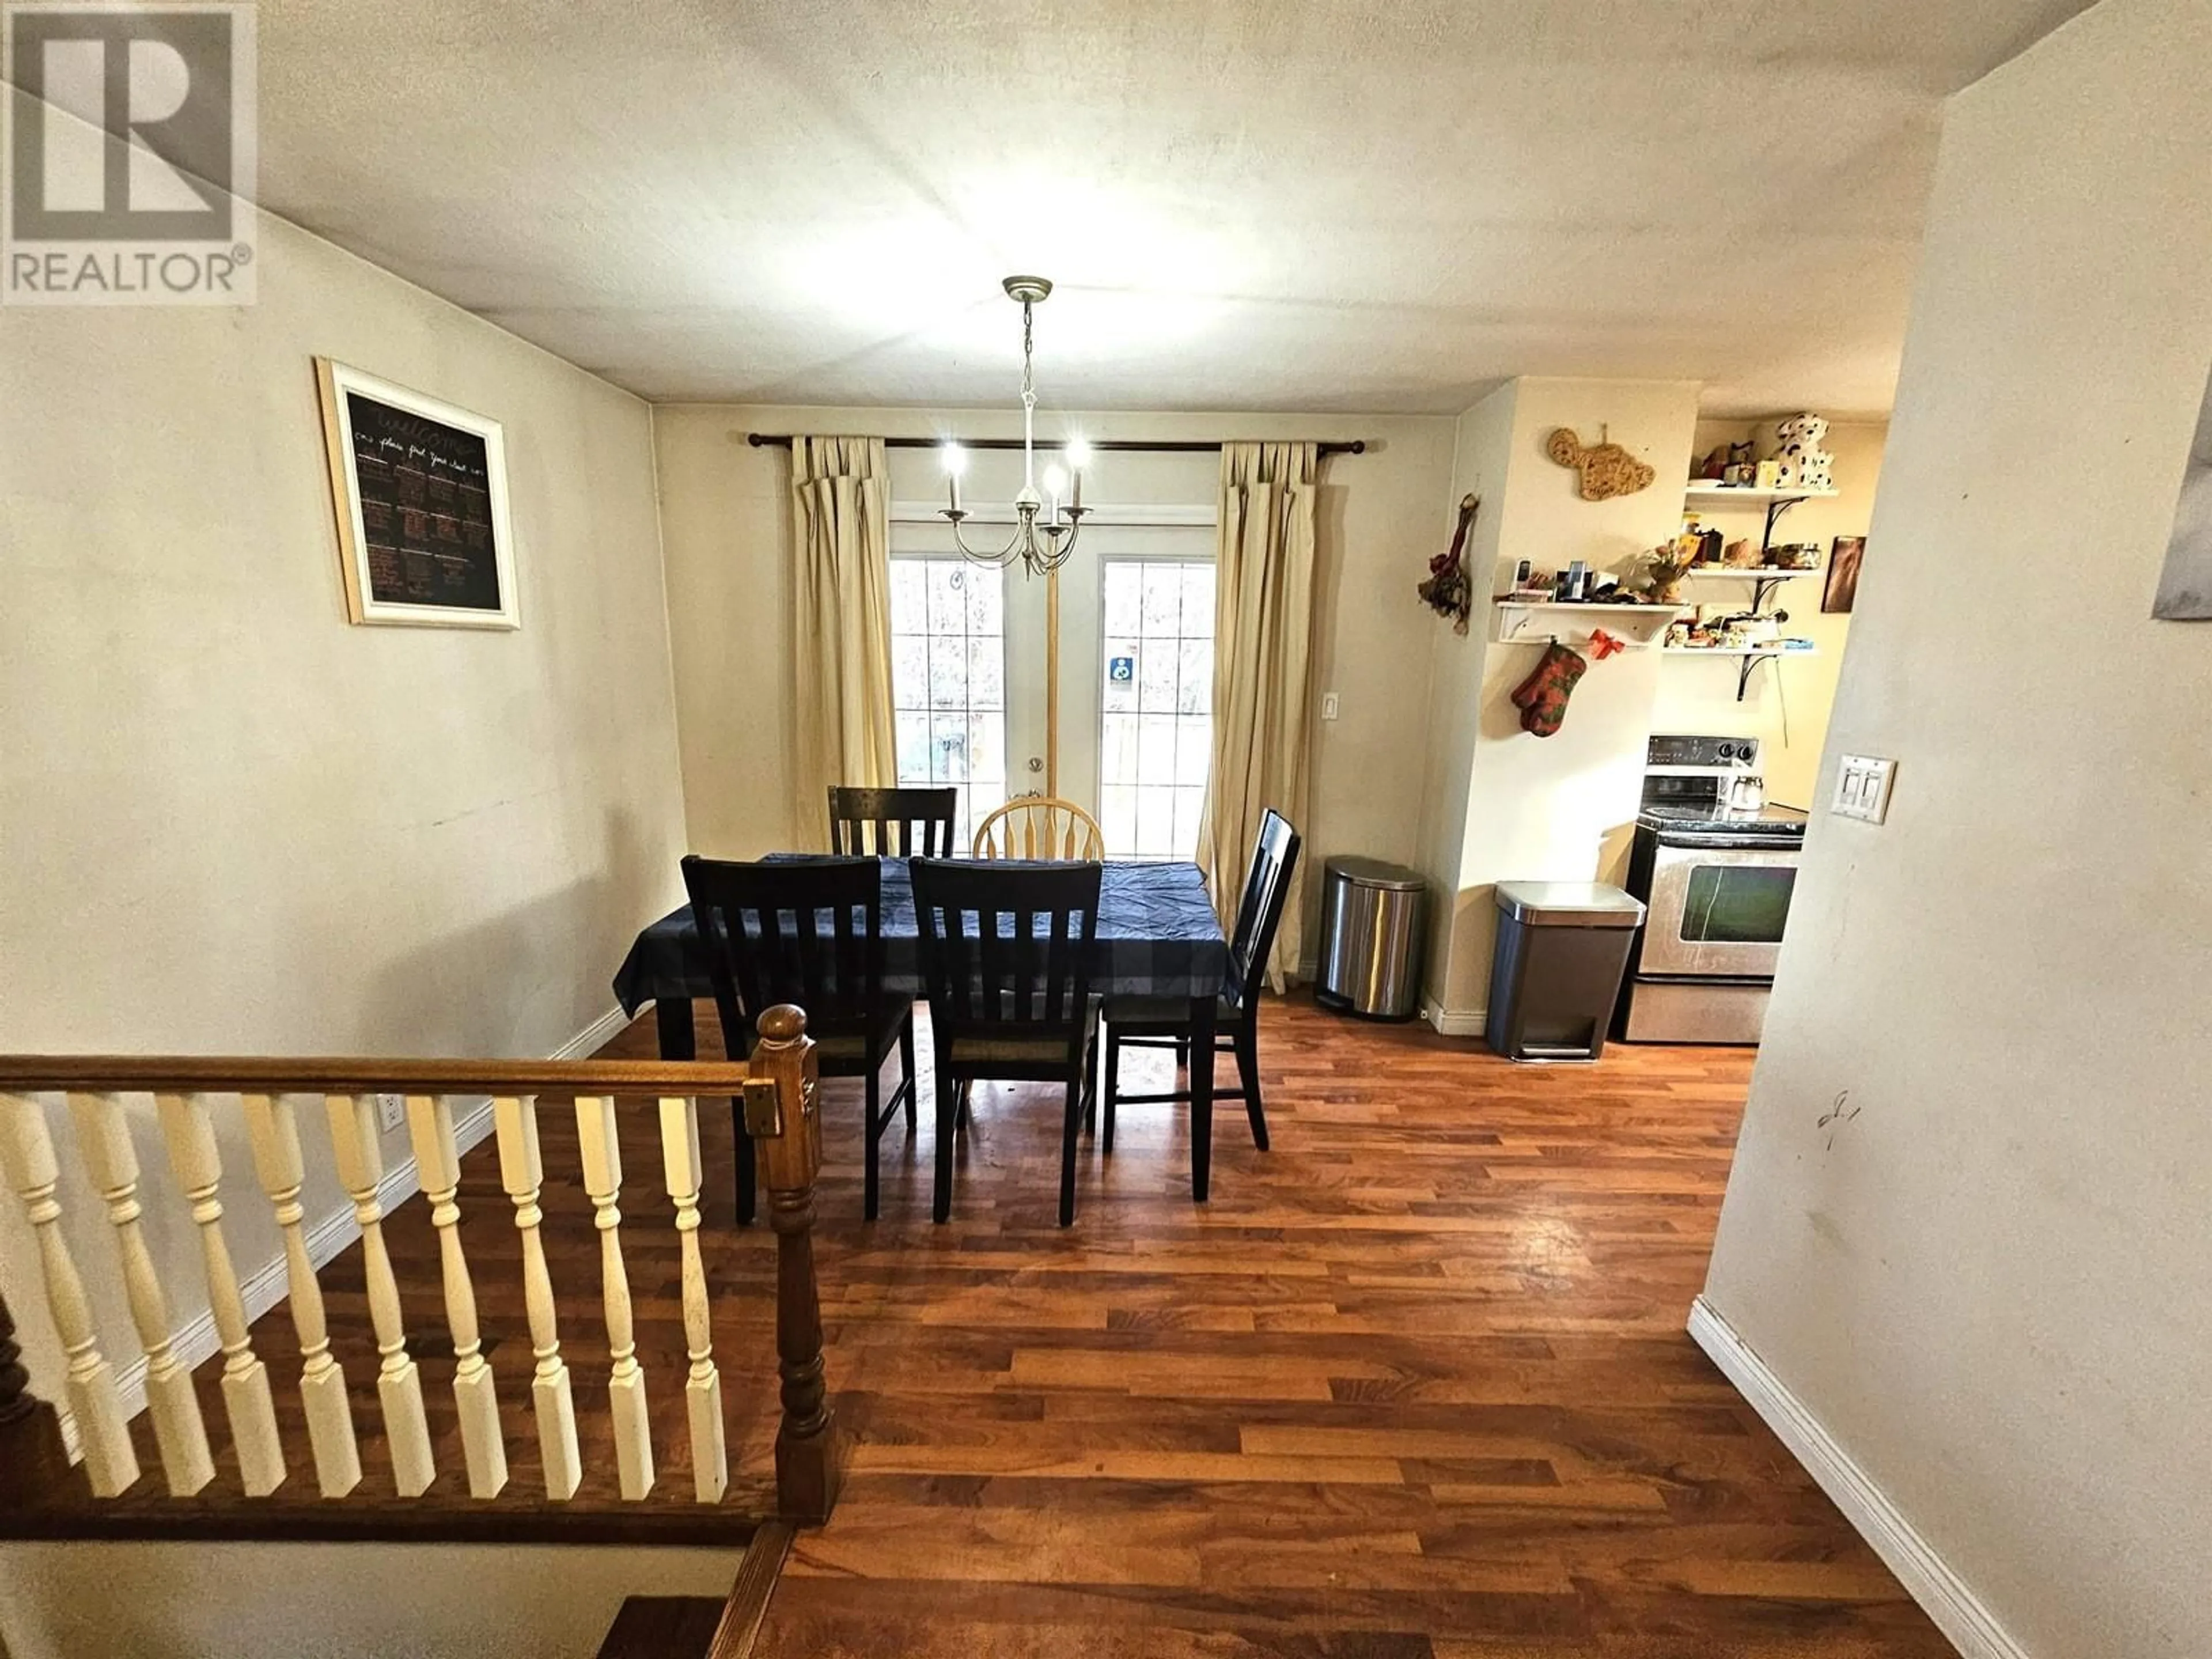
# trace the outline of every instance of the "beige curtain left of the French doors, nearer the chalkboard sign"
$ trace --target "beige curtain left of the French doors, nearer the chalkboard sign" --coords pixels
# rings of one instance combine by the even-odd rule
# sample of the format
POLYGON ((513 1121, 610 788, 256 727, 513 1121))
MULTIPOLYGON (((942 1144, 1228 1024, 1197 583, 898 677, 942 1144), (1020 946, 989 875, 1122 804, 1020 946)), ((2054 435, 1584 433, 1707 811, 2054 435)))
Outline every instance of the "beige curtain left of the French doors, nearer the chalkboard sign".
POLYGON ((792 781, 810 847, 830 847, 832 783, 898 783, 889 489, 883 438, 792 438, 792 781))

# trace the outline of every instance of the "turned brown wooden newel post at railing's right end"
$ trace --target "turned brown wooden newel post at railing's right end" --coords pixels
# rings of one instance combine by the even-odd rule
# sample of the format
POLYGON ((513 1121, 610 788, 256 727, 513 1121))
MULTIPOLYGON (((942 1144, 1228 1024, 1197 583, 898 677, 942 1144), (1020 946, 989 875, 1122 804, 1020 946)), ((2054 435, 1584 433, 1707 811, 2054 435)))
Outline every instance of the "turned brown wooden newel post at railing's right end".
POLYGON ((776 1232, 776 1358, 783 1371, 776 1509, 787 1520, 821 1526, 836 1502, 838 1444, 823 1385, 823 1310, 814 1283, 814 1177, 823 1161, 816 1060, 799 1009, 770 1009, 759 1031, 754 1077, 745 1082, 745 1133, 761 1148, 768 1223, 776 1232))

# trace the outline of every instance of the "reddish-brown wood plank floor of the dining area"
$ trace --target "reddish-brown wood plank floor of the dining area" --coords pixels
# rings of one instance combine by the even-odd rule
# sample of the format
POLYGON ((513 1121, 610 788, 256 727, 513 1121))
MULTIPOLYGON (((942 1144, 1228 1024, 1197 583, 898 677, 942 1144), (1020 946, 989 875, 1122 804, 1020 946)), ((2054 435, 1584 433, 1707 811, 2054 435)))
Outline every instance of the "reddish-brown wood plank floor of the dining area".
MULTIPOLYGON (((712 1011, 699 1018, 706 1046, 712 1011)), ((606 1048, 650 1051, 650 1015, 606 1048)), ((1126 1062, 1133 1088, 1166 1084, 1168 1055, 1126 1062)), ((1681 1329, 1750 1053, 1615 1044, 1599 1066, 1509 1066, 1420 1026, 1290 1002, 1263 1013, 1261 1066, 1274 1150, 1252 1148, 1234 1104, 1219 1110, 1212 1203, 1190 1203, 1183 1108, 1130 1106, 1110 1159, 1084 1144, 1068 1230, 1055 1225, 1057 1091, 975 1091, 953 1219, 936 1228, 927 1102, 916 1141, 885 1135, 869 1225, 860 1084, 825 1084, 818 1270, 852 1458, 757 1652, 1951 1652, 1681 1329)), ((737 1506, 763 1502, 774 1252, 765 1228, 734 1228, 728 1115, 703 1117, 714 1356, 732 1486, 752 1493, 730 1511, 690 1504, 677 1234, 639 1108, 624 1119, 622 1239, 659 1484, 646 1506, 615 1498, 591 1203, 573 1117, 546 1110, 546 1239, 586 1455, 562 1526, 615 1511, 648 1531, 743 1537, 737 1506)), ((529 1528, 544 1504, 520 1248, 489 1141, 467 1157, 460 1199, 513 1467, 487 1524, 529 1528)), ((482 1513, 458 1473, 425 1206, 387 1234, 447 1471, 431 1495, 482 1513)), ((363 1498, 385 1506, 358 1248, 323 1283, 363 1429, 363 1498)), ((296 1400, 283 1310, 257 1343, 279 1402, 296 1400)), ((212 1363, 199 1374, 219 1433, 215 1376, 212 1363)), ((288 1502, 305 1511, 296 1418, 285 1438, 288 1502)), ((226 1502, 239 1500, 210 1509, 226 1502)), ((352 1502, 321 1506, 334 1509, 352 1502)))

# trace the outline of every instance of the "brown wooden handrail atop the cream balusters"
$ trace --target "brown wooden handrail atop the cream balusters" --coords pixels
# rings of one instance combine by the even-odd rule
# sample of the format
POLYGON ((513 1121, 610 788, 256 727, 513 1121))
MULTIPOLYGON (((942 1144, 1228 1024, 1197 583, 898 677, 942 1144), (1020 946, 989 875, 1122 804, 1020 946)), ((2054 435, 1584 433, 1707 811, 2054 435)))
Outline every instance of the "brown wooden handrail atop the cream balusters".
POLYGON ((0 1055, 0 1093, 741 1095, 743 1060, 270 1060, 265 1055, 0 1055))

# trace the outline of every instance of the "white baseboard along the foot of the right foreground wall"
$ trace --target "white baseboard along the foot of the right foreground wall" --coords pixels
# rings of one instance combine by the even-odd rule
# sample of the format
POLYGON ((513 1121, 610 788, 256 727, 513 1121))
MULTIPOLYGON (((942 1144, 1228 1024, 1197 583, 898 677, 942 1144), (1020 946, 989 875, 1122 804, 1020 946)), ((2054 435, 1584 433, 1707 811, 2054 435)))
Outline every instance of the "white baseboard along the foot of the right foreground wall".
POLYGON ((1982 1599, 1944 1564, 1936 1546, 1920 1537, 1887 1493, 1851 1460, 1851 1453, 1836 1444, 1803 1400, 1767 1369, 1767 1363, 1750 1349, 1736 1327, 1703 1296, 1690 1303, 1690 1338, 1705 1349, 1705 1356, 1736 1385, 1736 1394, 1805 1464, 1805 1473, 1820 1482, 1820 1491, 1836 1502, 1845 1520, 1874 1546, 1874 1553, 1898 1575, 1907 1595, 1920 1604, 1920 1610, 1936 1621, 1936 1628, 1964 1659, 2028 1659, 2028 1650, 2013 1641, 1997 1624, 1997 1615, 1982 1606, 1982 1599))

